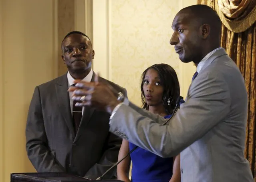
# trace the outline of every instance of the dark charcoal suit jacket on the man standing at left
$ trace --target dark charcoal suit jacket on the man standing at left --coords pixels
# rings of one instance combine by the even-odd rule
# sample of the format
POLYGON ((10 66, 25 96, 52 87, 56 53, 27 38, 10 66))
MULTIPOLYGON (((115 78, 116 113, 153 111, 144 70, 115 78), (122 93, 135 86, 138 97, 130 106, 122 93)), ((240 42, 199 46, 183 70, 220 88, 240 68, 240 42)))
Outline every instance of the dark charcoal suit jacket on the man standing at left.
MULTIPOLYGON (((107 82, 126 95, 125 89, 107 82)), ((75 135, 67 90, 67 74, 35 88, 26 124, 28 158, 38 172, 67 172, 95 179, 117 161, 122 141, 109 133, 110 115, 91 107, 84 109, 75 135)), ((105 178, 113 178, 115 172, 105 178)))

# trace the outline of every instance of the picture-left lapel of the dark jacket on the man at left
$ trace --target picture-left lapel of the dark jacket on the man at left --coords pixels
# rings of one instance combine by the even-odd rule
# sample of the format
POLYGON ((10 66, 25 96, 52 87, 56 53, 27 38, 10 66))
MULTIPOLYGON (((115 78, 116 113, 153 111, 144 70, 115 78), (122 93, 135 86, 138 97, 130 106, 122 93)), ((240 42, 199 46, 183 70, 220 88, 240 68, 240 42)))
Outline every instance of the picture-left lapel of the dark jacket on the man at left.
POLYGON ((55 89, 56 97, 58 98, 60 113, 62 114, 62 117, 70 130, 70 133, 72 134, 73 138, 75 138, 75 131, 72 123, 71 107, 69 101, 67 74, 59 77, 56 80, 55 89))

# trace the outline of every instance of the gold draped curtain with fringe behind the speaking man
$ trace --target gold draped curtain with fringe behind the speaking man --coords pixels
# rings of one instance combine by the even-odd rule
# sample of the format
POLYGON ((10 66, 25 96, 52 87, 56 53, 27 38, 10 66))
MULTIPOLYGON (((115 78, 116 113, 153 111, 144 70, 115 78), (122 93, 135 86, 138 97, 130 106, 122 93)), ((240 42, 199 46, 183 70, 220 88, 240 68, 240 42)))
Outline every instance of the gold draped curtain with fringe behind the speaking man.
MULTIPOLYGON (((241 4, 236 4, 236 0, 230 0, 229 7, 227 4, 222 4, 221 1, 224 2, 223 0, 198 0, 198 4, 206 4, 219 14, 223 23, 221 46, 235 61, 245 79, 248 93, 248 118, 244 156, 250 162, 256 182, 256 0, 237 1, 244 3, 243 5, 247 8, 241 7, 241 4), (226 6, 226 8, 219 5, 226 6), (241 19, 242 16, 244 19, 241 19), (237 22, 240 22, 239 26, 237 26, 237 22), (232 23, 236 26, 233 26, 232 23)), ((225 0, 225 2, 228 1, 225 0)))

